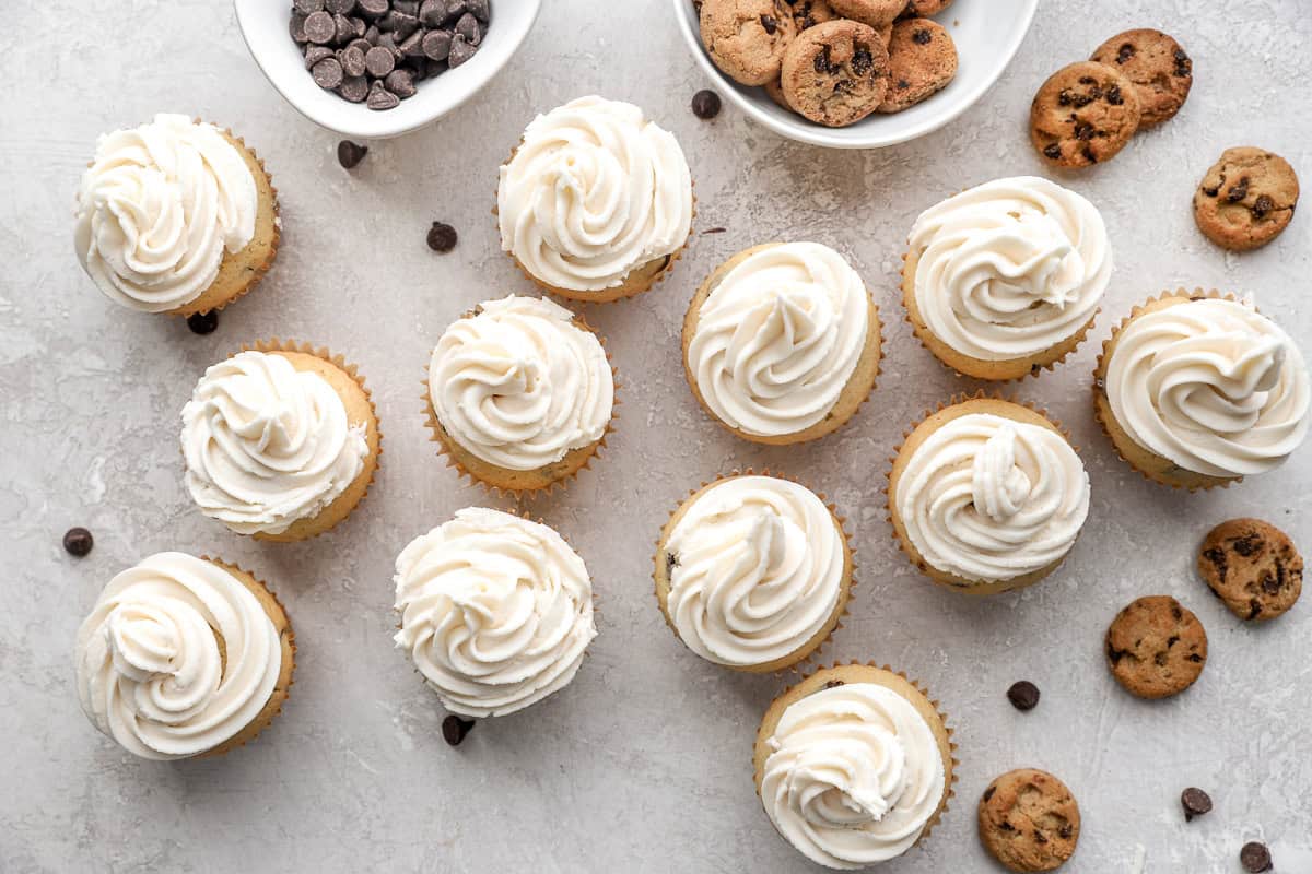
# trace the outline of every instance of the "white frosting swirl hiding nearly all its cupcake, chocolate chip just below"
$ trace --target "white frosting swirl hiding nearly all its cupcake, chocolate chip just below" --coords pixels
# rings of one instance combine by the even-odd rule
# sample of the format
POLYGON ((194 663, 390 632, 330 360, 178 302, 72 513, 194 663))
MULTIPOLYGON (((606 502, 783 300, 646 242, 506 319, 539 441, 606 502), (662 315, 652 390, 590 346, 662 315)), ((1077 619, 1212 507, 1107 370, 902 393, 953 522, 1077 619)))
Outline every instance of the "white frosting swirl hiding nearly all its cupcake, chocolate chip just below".
POLYGON ((396 645, 447 710, 500 717, 563 689, 597 636, 592 580, 551 528, 470 507, 396 558, 396 645))

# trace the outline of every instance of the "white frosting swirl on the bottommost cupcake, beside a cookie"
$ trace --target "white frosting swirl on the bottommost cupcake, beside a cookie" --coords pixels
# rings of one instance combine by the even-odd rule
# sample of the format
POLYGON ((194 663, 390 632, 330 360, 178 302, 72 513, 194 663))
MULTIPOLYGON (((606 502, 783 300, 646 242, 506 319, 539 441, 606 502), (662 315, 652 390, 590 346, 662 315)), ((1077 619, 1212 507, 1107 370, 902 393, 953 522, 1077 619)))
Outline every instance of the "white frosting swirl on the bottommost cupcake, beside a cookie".
POLYGON ((946 781, 934 731, 874 683, 790 704, 768 740, 761 803, 813 862, 854 870, 905 853, 938 810, 946 781))

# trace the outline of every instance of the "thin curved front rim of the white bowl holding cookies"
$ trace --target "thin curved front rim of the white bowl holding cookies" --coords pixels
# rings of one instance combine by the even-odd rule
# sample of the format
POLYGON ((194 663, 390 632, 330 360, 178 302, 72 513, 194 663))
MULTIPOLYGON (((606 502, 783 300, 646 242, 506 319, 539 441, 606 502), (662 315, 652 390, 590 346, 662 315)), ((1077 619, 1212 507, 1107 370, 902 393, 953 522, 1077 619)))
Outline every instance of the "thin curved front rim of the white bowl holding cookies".
POLYGON ((1039 0, 1021 1, 1025 4, 1025 9, 1022 10, 1025 18, 1023 25, 1012 31, 1012 37, 1006 46, 1001 52, 998 52, 1002 63, 998 64, 997 72, 974 83, 971 89, 964 93, 958 106, 945 111, 942 115, 935 115, 920 122, 918 124, 897 128, 897 131, 892 134, 879 134, 871 135, 869 139, 853 140, 833 136, 828 132, 830 128, 823 124, 816 124, 815 122, 808 122, 800 117, 798 121, 790 119, 789 122, 782 122, 752 101, 747 100, 739 92, 740 85, 720 72, 720 68, 716 67, 710 55, 706 54, 706 48, 702 46, 702 37, 693 30, 691 22, 687 17, 689 0, 672 0, 674 7, 674 18, 678 21, 680 33, 684 34, 684 42, 687 43, 687 47, 693 52, 693 58, 697 60, 697 64, 702 68, 702 72, 720 85, 720 93, 723 93, 729 102, 747 113, 758 124, 774 131, 779 136, 796 140, 798 143, 810 143, 811 145, 842 149, 883 148, 886 145, 907 143, 921 138, 925 134, 932 134, 945 124, 956 121, 962 113, 979 102, 979 98, 983 97, 984 93, 988 92, 988 89, 992 88, 998 79, 1001 79, 1006 68, 1012 66, 1012 59, 1015 58, 1015 52, 1019 51, 1021 43, 1025 42, 1025 37, 1030 33, 1030 26, 1034 24, 1034 13, 1039 7, 1039 0))

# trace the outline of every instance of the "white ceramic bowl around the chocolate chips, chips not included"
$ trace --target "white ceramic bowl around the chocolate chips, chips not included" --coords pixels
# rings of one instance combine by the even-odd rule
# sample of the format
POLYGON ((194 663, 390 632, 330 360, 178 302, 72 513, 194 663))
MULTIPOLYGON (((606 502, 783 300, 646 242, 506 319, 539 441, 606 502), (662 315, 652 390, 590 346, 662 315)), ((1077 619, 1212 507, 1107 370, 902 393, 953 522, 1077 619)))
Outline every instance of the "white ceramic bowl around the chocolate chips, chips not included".
POLYGON ((291 0, 234 0, 234 7, 255 62, 297 111, 345 136, 384 139, 424 127, 478 93, 529 35, 542 0, 493 0, 492 21, 474 58, 425 79, 417 85, 419 93, 382 111, 348 102, 315 84, 287 30, 291 0))

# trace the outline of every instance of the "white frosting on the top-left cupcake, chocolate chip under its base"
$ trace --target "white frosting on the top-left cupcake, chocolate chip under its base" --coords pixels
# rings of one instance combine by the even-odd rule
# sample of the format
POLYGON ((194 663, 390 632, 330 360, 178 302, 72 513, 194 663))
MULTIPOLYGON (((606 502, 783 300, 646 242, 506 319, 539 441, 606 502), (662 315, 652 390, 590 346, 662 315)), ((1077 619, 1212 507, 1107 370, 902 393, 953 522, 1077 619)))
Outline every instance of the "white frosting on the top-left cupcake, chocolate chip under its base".
POLYGON ((223 254, 251 242, 256 208, 251 168, 216 127, 160 114, 96 143, 73 241, 112 300, 165 312, 199 297, 223 254))

